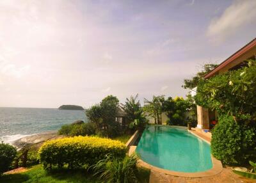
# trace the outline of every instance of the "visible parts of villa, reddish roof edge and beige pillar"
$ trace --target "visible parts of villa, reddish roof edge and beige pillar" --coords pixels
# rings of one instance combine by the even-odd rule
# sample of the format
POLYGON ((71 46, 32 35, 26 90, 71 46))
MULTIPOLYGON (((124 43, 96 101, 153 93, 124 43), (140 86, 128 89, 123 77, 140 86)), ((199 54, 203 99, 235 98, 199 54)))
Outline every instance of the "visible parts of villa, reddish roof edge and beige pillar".
MULTIPOLYGON (((244 45, 239 51, 232 54, 227 60, 223 61, 204 76, 205 79, 211 78, 228 70, 236 70, 238 68, 246 66, 245 60, 256 59, 256 38, 248 44, 244 45)), ((197 106, 197 129, 210 129, 210 122, 216 120, 218 115, 216 111, 211 111, 202 106, 197 106)))

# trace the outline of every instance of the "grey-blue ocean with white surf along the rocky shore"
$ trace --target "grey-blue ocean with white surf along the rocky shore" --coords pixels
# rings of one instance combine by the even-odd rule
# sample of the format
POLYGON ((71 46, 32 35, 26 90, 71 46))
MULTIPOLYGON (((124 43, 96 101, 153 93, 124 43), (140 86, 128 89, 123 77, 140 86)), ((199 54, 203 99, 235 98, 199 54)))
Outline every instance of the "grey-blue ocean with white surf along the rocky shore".
POLYGON ((76 120, 87 122, 84 111, 0 107, 0 141, 12 144, 16 139, 58 130, 76 120))

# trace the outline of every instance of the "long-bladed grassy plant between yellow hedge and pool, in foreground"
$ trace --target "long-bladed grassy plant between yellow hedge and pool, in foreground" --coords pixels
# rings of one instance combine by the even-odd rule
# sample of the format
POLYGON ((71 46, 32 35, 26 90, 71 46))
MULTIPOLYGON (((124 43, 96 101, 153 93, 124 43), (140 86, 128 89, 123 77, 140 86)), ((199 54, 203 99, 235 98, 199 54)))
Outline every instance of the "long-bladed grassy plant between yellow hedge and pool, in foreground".
POLYGON ((128 183, 138 182, 136 177, 136 163, 138 157, 132 154, 124 159, 116 158, 113 155, 107 155, 105 159, 100 160, 92 166, 95 176, 106 182, 128 183))

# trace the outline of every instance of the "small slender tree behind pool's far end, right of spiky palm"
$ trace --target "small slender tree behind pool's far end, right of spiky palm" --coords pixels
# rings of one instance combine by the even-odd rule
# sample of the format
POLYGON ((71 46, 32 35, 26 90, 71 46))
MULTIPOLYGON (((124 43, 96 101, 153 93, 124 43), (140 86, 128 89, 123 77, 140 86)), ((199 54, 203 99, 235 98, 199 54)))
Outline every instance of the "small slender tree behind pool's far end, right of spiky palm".
POLYGON ((153 96, 152 101, 144 99, 144 111, 146 111, 155 120, 155 124, 162 124, 162 113, 164 104, 164 95, 153 96))

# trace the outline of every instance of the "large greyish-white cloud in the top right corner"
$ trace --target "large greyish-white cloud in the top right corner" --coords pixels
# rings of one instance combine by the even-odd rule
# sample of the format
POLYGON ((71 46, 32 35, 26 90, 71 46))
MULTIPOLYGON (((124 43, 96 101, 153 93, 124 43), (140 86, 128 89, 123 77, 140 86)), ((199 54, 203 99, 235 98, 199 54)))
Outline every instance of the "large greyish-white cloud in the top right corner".
POLYGON ((225 40, 248 24, 256 24, 256 1, 234 1, 219 18, 211 21, 207 36, 215 40, 225 40))

